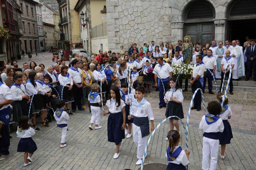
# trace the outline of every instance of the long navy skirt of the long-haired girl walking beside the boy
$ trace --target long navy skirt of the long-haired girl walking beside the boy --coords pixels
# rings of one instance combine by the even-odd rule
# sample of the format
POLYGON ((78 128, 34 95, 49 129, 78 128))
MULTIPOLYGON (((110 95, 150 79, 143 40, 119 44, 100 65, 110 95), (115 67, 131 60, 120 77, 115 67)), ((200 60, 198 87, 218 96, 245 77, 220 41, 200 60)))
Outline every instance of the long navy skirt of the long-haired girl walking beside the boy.
POLYGON ((108 116, 108 142, 115 142, 118 145, 125 138, 124 130, 122 130, 123 125, 123 114, 110 113, 108 116))

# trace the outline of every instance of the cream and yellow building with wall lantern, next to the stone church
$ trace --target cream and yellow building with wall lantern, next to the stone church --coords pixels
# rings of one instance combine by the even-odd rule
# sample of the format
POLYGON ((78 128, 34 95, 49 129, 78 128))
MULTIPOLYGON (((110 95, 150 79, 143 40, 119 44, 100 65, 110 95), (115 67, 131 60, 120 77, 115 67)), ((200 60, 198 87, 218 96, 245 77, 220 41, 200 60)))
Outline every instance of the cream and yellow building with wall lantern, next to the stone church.
POLYGON ((81 42, 85 49, 92 53, 99 53, 99 49, 108 51, 108 31, 107 31, 107 10, 106 0, 78 0, 75 10, 84 13, 85 26, 81 26, 84 21, 80 20, 81 42))

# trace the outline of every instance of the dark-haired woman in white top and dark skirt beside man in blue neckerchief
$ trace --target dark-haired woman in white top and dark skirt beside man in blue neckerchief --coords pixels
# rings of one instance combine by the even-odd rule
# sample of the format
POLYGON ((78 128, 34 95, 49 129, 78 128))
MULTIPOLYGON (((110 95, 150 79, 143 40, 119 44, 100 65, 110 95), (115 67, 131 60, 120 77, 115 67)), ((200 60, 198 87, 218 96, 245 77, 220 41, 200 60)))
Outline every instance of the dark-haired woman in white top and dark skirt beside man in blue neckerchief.
POLYGON ((69 110, 71 102, 74 101, 74 94, 72 92, 73 80, 69 77, 68 66, 62 66, 58 80, 60 82, 61 89, 60 98, 66 103, 67 113, 69 115, 73 115, 69 110))

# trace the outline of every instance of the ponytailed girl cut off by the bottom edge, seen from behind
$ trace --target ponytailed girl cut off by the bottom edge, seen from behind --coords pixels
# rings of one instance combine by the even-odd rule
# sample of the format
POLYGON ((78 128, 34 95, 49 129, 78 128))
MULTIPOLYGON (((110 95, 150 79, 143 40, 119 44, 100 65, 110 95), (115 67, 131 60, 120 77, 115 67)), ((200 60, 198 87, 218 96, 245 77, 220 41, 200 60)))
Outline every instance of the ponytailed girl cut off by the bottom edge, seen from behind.
POLYGON ((167 135, 169 145, 165 157, 169 162, 166 170, 187 170, 189 164, 189 150, 182 150, 180 143, 180 133, 177 130, 170 130, 167 135))

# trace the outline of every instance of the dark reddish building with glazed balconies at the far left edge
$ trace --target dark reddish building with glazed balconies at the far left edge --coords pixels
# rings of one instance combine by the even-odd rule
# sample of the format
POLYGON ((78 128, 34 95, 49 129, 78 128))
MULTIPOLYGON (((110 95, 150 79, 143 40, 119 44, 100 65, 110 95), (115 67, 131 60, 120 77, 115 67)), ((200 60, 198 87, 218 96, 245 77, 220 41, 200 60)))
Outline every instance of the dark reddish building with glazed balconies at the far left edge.
MULTIPOLYGON (((2 43, 3 49, 0 49, 0 60, 11 61, 20 58, 19 38, 23 34, 21 25, 21 13, 19 0, 1 0, 1 11, 4 22, 3 27, 10 30, 11 38, 2 43), (17 3, 16 3, 17 2, 17 3), (4 49, 6 46, 6 50, 4 49), (6 54, 5 56, 3 54, 6 54), (7 57, 6 57, 7 56, 7 57), (5 59, 4 59, 5 58, 5 59)), ((3 40, 2 40, 3 42, 3 40)))

